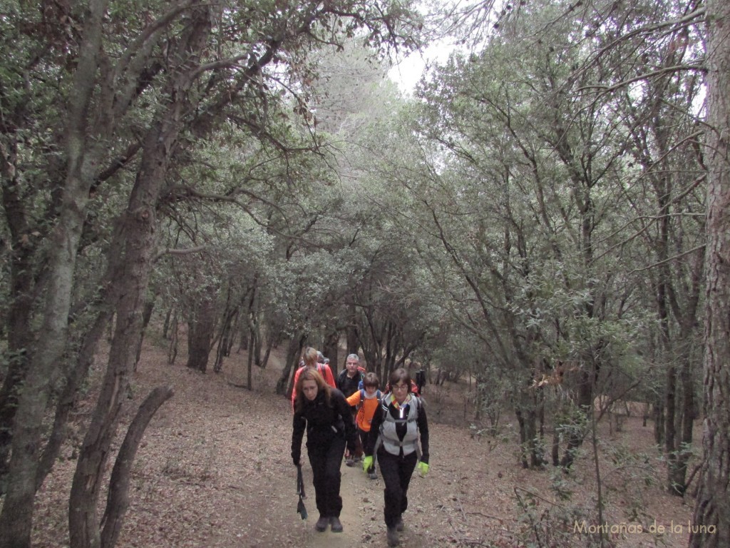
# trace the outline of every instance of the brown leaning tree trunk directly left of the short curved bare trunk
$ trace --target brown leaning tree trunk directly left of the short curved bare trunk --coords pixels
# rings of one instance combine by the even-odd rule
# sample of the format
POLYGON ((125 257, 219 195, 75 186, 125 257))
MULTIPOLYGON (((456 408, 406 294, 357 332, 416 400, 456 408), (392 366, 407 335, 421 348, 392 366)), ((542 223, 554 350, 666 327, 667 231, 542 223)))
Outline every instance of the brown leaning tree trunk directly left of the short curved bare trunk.
POLYGON ((72 548, 98 548, 101 542, 97 501, 129 376, 134 369, 155 249, 156 202, 176 137, 175 132, 172 135, 164 132, 164 123, 159 126, 147 134, 137 180, 127 210, 115 230, 112 250, 123 250, 117 257, 110 257, 110 265, 115 267, 111 279, 118 296, 115 303, 117 321, 107 370, 84 438, 69 498, 72 548))

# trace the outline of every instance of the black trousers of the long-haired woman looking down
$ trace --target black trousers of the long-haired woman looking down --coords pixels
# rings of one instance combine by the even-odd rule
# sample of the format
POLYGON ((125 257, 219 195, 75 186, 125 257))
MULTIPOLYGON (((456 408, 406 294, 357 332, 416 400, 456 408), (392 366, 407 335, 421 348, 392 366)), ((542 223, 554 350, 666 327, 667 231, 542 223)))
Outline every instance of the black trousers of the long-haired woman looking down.
POLYGON ((315 484, 315 503, 320 516, 339 517, 342 511, 342 497, 339 496, 342 474, 339 466, 345 454, 345 445, 342 438, 334 438, 328 444, 310 444, 307 441, 312 483, 315 484))

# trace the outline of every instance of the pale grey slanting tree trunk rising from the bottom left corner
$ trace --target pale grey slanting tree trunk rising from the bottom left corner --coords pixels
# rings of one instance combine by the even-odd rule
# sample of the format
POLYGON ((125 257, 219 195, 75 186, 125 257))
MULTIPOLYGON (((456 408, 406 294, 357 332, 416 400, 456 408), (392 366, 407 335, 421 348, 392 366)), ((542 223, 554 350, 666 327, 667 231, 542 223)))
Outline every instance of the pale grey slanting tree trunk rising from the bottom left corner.
POLYGON ((99 66, 102 20, 107 0, 88 3, 82 42, 74 72, 66 126, 66 180, 60 216, 50 235, 43 334, 28 361, 23 391, 13 423, 12 456, 8 465, 7 494, 0 513, 0 547, 26 548, 31 544, 34 499, 43 419, 50 390, 58 380, 61 357, 66 349, 74 267, 88 204, 88 191, 96 172, 97 154, 104 141, 89 145, 87 114, 99 66))

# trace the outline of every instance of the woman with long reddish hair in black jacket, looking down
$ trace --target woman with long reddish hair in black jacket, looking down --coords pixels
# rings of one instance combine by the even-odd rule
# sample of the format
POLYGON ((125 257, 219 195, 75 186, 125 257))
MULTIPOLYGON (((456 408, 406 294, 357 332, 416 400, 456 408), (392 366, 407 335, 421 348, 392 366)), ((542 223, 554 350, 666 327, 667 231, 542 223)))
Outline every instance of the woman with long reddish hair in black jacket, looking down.
POLYGON ((339 466, 343 454, 349 457, 355 452, 355 422, 345 396, 330 387, 316 369, 303 370, 296 381, 291 457, 297 466, 301 465, 301 438, 305 429, 320 513, 315 529, 323 531, 331 525, 333 533, 341 533, 339 466))

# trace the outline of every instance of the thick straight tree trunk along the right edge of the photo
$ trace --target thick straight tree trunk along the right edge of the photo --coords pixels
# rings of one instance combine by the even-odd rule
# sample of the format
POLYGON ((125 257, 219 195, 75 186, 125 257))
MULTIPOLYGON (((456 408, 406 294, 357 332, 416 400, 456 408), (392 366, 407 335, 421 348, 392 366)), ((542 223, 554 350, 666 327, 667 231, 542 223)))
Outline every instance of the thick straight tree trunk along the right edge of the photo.
POLYGON ((730 546, 730 2, 707 1, 707 313, 692 548, 730 546))

